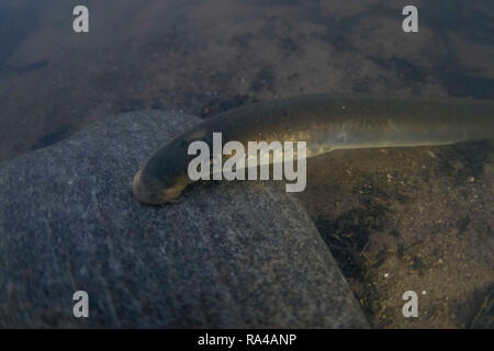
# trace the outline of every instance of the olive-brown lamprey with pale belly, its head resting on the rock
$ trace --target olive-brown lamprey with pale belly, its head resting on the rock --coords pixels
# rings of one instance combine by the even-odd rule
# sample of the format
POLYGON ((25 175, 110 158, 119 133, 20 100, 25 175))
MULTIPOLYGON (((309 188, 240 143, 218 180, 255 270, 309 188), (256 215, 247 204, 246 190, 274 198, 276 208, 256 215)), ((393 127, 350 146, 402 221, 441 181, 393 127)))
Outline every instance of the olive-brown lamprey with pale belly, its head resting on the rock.
POLYGON ((192 181, 188 155, 194 140, 224 143, 301 140, 306 157, 334 149, 447 145, 492 139, 494 102, 473 99, 409 99, 304 95, 259 102, 218 114, 161 146, 133 182, 146 204, 173 201, 192 181))

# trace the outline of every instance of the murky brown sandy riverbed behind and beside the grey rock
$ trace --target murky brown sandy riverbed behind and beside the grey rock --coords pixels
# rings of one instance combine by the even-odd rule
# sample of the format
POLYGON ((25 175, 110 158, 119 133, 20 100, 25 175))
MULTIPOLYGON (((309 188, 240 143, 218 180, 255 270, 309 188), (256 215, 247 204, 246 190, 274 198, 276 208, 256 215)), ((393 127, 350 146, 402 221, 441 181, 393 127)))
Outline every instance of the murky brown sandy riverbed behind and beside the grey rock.
MULTIPOLYGON (((207 118, 318 92, 494 99, 490 0, 416 1, 418 33, 402 31, 407 1, 88 0, 82 34, 76 4, 0 0, 0 160, 131 110, 207 118)), ((492 156, 481 144, 312 161, 300 197, 375 326, 471 326, 494 283, 492 156), (405 285, 429 294, 428 316, 398 316, 405 285)))

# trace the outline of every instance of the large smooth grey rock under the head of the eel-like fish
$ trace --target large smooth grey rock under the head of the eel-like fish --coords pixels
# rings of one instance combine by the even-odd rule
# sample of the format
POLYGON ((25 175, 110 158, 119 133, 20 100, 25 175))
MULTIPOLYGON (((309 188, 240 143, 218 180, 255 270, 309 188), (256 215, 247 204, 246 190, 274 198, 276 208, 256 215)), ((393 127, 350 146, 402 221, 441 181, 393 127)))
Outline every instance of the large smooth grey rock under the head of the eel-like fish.
POLYGON ((136 202, 134 173, 199 118, 116 115, 0 163, 1 327, 360 328, 304 208, 273 182, 136 202), (72 294, 89 294, 89 318, 72 294))

